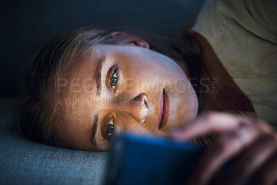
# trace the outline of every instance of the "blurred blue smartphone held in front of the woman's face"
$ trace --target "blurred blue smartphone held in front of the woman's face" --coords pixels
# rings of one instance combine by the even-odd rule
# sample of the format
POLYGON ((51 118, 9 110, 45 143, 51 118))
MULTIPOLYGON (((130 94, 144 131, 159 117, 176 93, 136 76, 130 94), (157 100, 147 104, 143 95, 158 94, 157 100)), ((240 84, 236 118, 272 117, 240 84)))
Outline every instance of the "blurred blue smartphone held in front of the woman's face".
POLYGON ((193 143, 120 133, 111 143, 105 184, 184 185, 201 154, 193 143))

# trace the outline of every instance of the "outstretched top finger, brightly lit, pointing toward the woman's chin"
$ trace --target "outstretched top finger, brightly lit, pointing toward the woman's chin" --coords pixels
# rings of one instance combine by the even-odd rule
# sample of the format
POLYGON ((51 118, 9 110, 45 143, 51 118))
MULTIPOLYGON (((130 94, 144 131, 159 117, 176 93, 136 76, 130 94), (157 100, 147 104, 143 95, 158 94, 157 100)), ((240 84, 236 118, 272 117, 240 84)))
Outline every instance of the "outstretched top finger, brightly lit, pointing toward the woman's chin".
POLYGON ((244 116, 212 112, 199 116, 195 122, 188 123, 181 130, 173 132, 172 138, 184 141, 203 134, 233 130, 242 124, 251 125, 252 122, 244 116))

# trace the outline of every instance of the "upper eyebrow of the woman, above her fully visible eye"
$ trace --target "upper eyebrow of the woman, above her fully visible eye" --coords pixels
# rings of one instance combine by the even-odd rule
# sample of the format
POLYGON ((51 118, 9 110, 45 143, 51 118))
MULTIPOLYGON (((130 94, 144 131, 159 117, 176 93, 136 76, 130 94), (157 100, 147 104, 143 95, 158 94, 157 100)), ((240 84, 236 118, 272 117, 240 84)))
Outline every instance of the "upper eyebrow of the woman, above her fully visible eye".
POLYGON ((94 74, 94 78, 96 79, 96 96, 100 96, 101 90, 102 90, 102 79, 101 79, 101 71, 102 71, 102 66, 103 63, 106 60, 106 56, 104 52, 101 52, 100 58, 96 62, 96 71, 94 74))

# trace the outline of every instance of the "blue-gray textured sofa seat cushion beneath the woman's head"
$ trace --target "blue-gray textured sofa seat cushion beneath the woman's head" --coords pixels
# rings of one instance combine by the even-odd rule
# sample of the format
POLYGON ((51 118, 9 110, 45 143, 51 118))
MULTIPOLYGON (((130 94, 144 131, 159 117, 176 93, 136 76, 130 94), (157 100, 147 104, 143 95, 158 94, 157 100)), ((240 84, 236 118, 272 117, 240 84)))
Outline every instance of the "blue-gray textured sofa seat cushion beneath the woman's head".
POLYGON ((0 184, 102 184, 108 152, 29 141, 10 130, 12 100, 0 105, 0 184))

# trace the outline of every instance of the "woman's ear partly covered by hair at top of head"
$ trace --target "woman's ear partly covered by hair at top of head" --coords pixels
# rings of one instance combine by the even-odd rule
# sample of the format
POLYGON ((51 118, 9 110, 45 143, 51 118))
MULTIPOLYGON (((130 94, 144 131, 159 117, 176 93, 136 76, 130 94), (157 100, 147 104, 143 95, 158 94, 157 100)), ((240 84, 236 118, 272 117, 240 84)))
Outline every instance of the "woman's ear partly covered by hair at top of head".
POLYGON ((122 35, 124 35, 123 37, 127 37, 127 40, 124 42, 125 44, 139 46, 145 49, 150 49, 148 42, 146 42, 144 39, 141 39, 134 35, 128 35, 127 33, 122 33, 120 31, 115 31, 111 33, 111 37, 120 37, 122 35))

